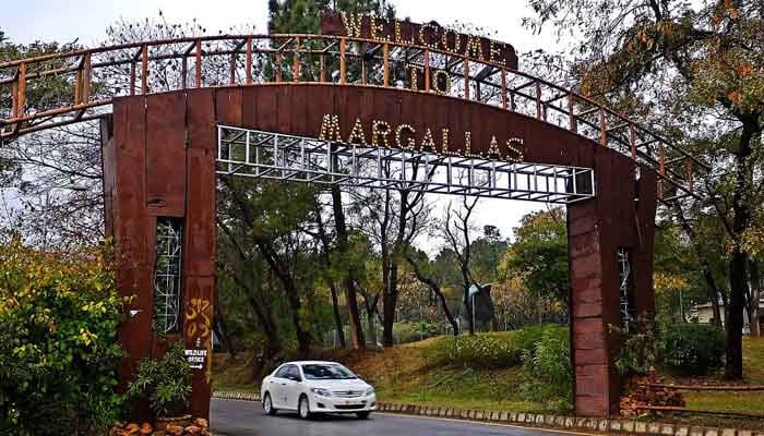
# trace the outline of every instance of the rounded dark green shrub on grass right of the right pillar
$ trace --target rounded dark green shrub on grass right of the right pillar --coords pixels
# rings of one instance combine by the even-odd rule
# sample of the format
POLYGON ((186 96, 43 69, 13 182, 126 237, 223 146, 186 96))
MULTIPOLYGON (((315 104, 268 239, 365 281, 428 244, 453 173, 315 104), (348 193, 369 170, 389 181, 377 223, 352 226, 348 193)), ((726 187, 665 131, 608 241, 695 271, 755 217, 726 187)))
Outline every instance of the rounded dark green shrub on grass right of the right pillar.
POLYGON ((664 365, 684 374, 704 375, 721 366, 725 337, 709 325, 665 324, 659 329, 659 348, 664 365))

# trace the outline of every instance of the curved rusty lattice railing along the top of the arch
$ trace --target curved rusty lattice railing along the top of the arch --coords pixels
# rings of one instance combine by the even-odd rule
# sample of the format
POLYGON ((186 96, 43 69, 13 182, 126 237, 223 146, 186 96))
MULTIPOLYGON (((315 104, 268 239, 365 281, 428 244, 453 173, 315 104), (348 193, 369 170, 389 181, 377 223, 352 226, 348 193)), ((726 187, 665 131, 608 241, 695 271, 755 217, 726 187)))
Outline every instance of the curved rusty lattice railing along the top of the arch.
POLYGON ((432 47, 330 35, 164 39, 0 63, 0 138, 99 118, 115 97, 263 83, 405 88, 500 107, 656 170, 664 202, 697 197, 693 174, 708 170, 650 129, 530 74, 432 47))

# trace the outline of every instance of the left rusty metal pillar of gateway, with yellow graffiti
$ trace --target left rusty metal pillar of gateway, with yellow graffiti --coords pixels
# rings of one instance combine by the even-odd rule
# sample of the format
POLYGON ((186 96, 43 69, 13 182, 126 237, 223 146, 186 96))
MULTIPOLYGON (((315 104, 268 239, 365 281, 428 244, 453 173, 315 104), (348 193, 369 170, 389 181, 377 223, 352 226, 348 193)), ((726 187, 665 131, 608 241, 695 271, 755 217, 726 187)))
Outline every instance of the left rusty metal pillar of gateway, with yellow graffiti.
MULTIPOLYGON (((182 341, 190 412, 208 419, 215 292, 215 130, 208 90, 115 99, 102 122, 106 233, 128 318, 120 386, 182 341), (188 104, 187 104, 188 101, 188 104), (192 104, 192 101, 198 102, 192 104), (175 264, 174 264, 175 263, 175 264)), ((136 404, 135 417, 148 414, 136 404)))

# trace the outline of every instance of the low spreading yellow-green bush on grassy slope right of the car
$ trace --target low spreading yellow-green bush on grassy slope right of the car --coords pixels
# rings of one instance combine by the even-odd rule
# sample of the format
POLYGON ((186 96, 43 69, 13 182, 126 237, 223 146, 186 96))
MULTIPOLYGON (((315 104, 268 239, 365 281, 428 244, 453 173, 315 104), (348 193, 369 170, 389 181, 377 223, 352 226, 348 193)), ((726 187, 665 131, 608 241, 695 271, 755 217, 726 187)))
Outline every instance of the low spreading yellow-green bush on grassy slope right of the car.
POLYGON ((523 354, 533 352, 547 330, 559 326, 537 326, 500 334, 449 337, 425 350, 425 358, 434 366, 501 368, 517 366, 523 354))

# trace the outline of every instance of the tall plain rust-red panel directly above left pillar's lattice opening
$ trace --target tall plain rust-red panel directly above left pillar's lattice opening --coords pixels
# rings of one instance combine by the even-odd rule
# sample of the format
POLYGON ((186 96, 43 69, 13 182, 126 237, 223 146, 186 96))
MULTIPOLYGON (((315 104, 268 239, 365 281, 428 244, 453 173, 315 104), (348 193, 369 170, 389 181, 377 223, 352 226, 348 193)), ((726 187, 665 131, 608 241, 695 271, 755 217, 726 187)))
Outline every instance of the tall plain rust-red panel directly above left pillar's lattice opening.
POLYGON ((146 205, 150 215, 182 217, 186 206, 186 94, 146 99, 146 205))

